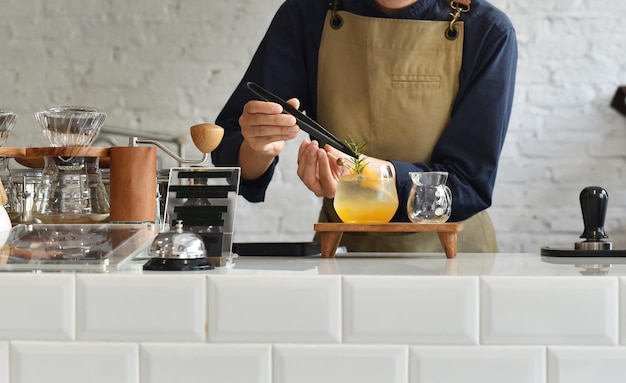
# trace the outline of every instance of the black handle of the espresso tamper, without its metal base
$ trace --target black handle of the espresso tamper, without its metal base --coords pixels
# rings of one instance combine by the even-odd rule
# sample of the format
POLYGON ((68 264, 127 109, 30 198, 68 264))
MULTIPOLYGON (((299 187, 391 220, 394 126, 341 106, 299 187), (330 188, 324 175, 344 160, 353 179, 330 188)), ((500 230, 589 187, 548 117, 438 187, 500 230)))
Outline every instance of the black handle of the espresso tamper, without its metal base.
POLYGON ((589 242, 608 238, 604 232, 604 218, 609 203, 609 193, 599 186, 588 186, 580 192, 580 208, 583 213, 585 231, 580 238, 589 242))

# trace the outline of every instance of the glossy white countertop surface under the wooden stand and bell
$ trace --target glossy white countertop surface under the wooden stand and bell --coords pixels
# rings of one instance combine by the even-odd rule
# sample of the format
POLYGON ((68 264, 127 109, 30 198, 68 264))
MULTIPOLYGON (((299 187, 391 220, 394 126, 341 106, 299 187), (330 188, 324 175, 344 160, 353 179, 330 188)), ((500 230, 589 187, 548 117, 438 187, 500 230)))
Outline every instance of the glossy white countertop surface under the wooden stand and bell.
MULTIPOLYGON (((132 262, 120 272, 144 272, 143 260, 132 262)), ((232 267, 218 267, 203 273, 306 274, 306 275, 412 275, 412 276, 588 276, 626 275, 622 257, 547 257, 539 253, 459 253, 447 259, 443 254, 343 253, 334 258, 239 256, 232 267)), ((168 272, 159 272, 160 274, 168 272)), ((188 272, 174 272, 176 274, 188 272)))

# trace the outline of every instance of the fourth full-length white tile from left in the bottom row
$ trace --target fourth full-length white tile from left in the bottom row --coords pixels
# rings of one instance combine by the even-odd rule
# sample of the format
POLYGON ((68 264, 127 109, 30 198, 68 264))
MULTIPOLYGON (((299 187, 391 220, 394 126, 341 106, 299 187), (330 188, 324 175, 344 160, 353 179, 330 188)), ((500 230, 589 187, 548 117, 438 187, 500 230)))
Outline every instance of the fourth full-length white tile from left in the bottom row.
POLYGON ((539 346, 415 346, 409 383, 545 383, 545 354, 539 346))

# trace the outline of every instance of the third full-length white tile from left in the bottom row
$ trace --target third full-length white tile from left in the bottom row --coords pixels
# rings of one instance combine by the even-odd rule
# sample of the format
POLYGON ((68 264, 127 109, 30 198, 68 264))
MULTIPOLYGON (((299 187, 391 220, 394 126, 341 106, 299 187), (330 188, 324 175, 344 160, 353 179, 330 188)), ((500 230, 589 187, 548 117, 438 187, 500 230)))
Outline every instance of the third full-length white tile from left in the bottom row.
POLYGON ((405 383, 408 348, 391 345, 277 345, 273 383, 405 383))

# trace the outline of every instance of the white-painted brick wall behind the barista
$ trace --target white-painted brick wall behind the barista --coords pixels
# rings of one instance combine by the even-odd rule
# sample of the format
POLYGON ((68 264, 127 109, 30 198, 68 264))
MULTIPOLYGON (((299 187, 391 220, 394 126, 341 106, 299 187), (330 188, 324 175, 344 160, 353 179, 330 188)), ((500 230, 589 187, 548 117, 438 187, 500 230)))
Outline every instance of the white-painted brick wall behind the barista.
MULTIPOLYGON (((86 104, 106 124, 187 135, 214 121, 281 0, 5 0, 0 107, 20 114, 7 146, 44 144, 33 113, 86 104)), ((573 246, 588 185, 610 195, 606 230, 626 246, 626 119, 609 107, 626 84, 622 0, 493 0, 513 20, 515 108, 492 217, 504 252, 573 246)), ((187 157, 199 158, 189 140, 187 157)), ((264 204, 240 200, 237 241, 308 240, 319 201, 288 145, 264 204)))

